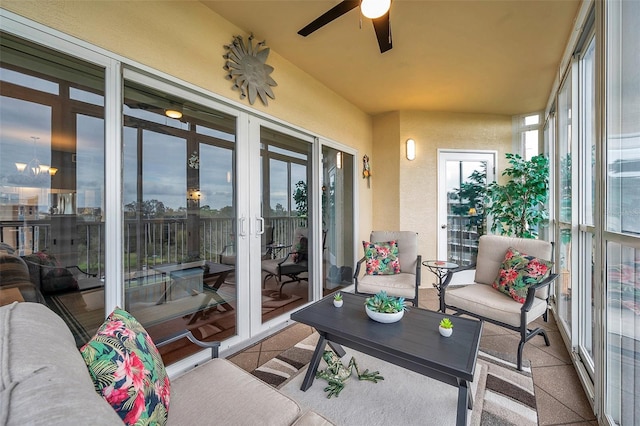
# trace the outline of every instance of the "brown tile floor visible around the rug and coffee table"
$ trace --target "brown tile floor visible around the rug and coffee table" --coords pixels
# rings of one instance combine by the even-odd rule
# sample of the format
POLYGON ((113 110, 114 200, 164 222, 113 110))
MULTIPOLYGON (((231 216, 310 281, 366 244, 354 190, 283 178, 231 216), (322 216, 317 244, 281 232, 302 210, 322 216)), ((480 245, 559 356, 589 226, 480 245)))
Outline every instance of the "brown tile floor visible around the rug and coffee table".
MULTIPOLYGON (((421 308, 438 308, 434 289, 420 290, 420 297, 421 308)), ((597 425, 553 315, 549 315, 548 323, 542 320, 539 322, 547 330, 551 346, 545 346, 542 337, 536 337, 524 346, 524 358, 530 360, 532 365, 539 425, 597 425)), ((228 359, 243 369, 252 371, 312 332, 313 329, 309 326, 294 324, 228 359)), ((518 341, 517 333, 485 323, 480 346, 496 352, 515 354, 518 341)))

